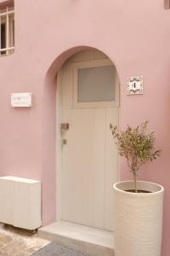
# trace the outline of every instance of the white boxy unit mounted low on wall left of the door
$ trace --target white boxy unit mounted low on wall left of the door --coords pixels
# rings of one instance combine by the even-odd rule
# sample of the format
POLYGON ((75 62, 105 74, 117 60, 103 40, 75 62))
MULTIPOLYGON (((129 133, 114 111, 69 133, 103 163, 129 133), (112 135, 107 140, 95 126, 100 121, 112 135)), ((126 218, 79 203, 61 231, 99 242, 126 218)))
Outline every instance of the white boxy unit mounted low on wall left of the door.
POLYGON ((41 226, 41 182, 0 177, 0 222, 26 230, 41 226))

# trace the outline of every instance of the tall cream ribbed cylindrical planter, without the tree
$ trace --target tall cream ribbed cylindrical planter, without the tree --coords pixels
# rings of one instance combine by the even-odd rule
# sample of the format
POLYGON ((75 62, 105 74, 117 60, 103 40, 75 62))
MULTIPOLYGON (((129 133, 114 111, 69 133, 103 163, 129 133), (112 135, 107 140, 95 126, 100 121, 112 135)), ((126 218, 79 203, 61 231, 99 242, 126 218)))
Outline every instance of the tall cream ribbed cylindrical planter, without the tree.
POLYGON ((138 189, 151 193, 131 193, 133 181, 114 184, 115 256, 161 256, 163 187, 137 182, 138 189))

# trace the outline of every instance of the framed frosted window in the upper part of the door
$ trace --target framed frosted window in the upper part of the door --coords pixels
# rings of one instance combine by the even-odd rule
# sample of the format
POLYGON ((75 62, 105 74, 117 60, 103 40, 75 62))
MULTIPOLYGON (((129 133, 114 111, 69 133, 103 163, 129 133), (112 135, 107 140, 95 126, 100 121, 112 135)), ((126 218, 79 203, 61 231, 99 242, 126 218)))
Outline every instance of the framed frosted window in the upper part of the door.
POLYGON ((72 108, 119 105, 116 67, 109 59, 72 63, 72 108))

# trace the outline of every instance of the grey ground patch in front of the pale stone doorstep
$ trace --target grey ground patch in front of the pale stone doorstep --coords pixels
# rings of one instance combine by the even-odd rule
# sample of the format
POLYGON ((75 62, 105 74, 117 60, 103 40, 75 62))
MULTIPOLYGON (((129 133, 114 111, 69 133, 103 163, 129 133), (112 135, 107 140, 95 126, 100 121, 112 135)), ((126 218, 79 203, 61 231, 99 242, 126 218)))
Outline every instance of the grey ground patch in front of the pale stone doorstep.
POLYGON ((47 247, 43 247, 37 253, 34 253, 32 256, 88 256, 87 254, 77 252, 75 250, 61 247, 55 242, 48 244, 47 247))

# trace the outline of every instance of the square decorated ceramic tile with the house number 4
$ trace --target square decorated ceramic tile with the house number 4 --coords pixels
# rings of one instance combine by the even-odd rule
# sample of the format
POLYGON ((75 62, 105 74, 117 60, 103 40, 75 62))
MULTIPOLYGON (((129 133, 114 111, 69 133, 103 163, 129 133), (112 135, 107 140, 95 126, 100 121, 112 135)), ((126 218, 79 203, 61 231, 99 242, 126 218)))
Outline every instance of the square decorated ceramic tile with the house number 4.
POLYGON ((143 77, 127 78, 127 95, 143 94, 143 77))

